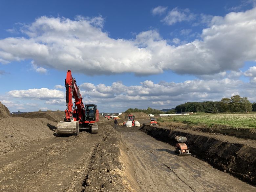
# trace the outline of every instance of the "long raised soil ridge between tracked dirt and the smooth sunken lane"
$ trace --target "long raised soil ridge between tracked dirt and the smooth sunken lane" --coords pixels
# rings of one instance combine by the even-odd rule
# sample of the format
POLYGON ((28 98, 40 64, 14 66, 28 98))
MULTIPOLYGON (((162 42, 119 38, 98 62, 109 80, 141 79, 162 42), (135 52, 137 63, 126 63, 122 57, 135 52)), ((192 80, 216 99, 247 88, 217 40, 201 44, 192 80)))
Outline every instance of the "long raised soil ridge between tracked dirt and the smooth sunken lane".
POLYGON ((121 136, 110 126, 104 126, 105 138, 96 146, 83 191, 141 191, 132 162, 121 136))

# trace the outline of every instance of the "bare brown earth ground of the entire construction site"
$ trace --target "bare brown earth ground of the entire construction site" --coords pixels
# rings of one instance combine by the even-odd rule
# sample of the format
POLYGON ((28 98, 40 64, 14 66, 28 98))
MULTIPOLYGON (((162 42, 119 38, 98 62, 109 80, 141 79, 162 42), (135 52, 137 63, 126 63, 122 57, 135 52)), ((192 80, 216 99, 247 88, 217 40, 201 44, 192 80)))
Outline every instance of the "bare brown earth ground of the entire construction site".
MULTIPOLYGON (((150 136, 145 126, 114 129, 114 120, 101 118, 98 134, 58 137, 61 113, 26 116, 0 119, 0 191, 256 190, 253 181, 241 181, 228 170, 215 169, 207 160, 177 156, 172 143, 150 136)), ((141 124, 150 121, 138 120, 141 124)), ((239 142, 243 140, 254 147, 248 139, 239 142)), ((255 159, 255 154, 251 158, 255 159)))

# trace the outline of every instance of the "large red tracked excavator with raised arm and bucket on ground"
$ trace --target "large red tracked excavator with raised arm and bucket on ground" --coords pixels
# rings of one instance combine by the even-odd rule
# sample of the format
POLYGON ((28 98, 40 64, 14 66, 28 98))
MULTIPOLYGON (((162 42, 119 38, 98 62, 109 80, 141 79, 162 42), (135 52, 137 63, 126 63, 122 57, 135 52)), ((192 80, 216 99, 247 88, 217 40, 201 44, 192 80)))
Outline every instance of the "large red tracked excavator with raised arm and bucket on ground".
POLYGON ((99 111, 97 105, 83 104, 79 86, 76 85, 75 78, 71 75, 71 70, 67 72, 65 79, 66 87, 66 117, 57 126, 58 135, 78 135, 79 131, 90 129, 91 133, 98 133, 99 111), (72 98, 75 99, 73 106, 72 98))

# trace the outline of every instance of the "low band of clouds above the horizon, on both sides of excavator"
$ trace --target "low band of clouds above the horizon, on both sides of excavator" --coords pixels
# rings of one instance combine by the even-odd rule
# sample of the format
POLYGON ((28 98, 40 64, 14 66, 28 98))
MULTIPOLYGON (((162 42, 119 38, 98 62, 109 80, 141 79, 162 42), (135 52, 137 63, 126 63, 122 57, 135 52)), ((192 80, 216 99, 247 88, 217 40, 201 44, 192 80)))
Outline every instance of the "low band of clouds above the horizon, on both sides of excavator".
MULTIPOLYGON (((229 72, 219 74, 217 79, 193 79, 180 83, 166 81, 156 83, 152 80, 145 80, 138 85, 130 86, 120 81, 113 82, 111 85, 83 83, 80 86, 80 93, 84 104, 96 104, 101 112, 121 112, 135 107, 171 108, 188 101, 217 101, 236 94, 248 97, 251 102, 256 101, 253 91, 256 88, 256 77, 253 77, 249 83, 245 83, 238 78, 241 74, 243 75, 242 72, 229 72)), ((13 90, 8 92, 8 95, 18 99, 19 102, 3 101, 3 103, 15 109, 25 108, 27 99, 34 99, 30 105, 34 107, 33 109, 66 108, 64 91, 46 88, 13 90), (23 104, 22 100, 26 102, 23 104)), ((27 105, 26 108, 28 108, 27 105)))

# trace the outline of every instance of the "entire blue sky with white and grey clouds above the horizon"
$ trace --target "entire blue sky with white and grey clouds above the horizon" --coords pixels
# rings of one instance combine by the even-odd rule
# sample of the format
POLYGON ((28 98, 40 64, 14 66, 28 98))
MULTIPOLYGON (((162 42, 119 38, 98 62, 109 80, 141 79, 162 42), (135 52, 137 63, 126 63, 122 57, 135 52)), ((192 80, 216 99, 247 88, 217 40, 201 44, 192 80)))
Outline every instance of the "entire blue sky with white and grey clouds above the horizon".
POLYGON ((64 110, 72 70, 101 112, 256 101, 254 0, 0 2, 0 101, 64 110), (253 30, 254 29, 254 30, 253 30))

